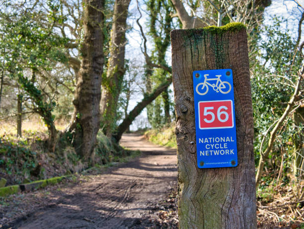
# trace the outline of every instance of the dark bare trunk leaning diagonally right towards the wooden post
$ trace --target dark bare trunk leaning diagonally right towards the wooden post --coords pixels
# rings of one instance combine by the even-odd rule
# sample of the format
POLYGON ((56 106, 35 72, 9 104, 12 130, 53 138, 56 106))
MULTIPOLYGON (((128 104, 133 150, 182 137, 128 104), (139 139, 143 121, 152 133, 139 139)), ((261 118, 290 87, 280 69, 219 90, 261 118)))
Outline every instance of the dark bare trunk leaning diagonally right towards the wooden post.
POLYGON ((166 82, 159 85, 156 89, 152 91, 151 94, 145 95, 144 99, 136 105, 136 107, 125 117, 123 122, 117 127, 115 133, 113 134, 113 138, 119 142, 122 134, 128 129, 131 125, 132 121, 137 117, 137 115, 141 114, 144 108, 147 107, 157 96, 160 95, 163 91, 165 91, 170 84, 172 83, 172 78, 168 78, 166 82))

